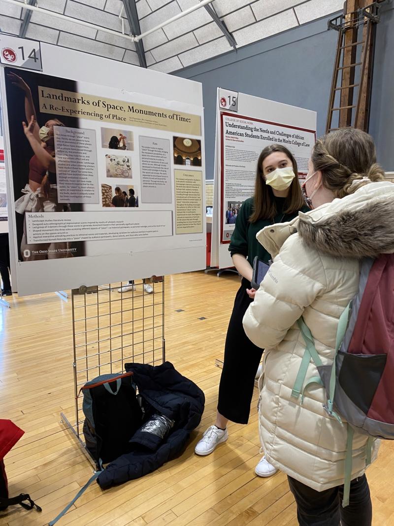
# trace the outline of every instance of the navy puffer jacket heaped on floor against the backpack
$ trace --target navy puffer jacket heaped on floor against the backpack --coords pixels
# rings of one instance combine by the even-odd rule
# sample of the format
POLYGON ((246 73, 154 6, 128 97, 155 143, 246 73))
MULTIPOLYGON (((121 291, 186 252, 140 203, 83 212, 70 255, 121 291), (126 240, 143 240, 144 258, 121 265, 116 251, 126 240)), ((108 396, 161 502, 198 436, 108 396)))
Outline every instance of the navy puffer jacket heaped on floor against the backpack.
POLYGON ((154 433, 137 431, 130 441, 130 452, 123 454, 100 473, 101 489, 138 479, 177 457, 195 429, 204 411, 205 397, 191 380, 180 375, 170 362, 160 366, 126 363, 133 372, 133 381, 148 410, 164 414, 175 423, 164 439, 154 433))

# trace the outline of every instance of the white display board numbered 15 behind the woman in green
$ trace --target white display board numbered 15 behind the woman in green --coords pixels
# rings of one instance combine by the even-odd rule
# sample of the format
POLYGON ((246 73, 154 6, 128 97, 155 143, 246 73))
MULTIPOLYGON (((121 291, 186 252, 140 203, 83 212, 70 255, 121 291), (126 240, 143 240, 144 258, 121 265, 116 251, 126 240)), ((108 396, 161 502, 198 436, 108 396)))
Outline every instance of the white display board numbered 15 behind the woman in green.
POLYGON ((253 196, 257 159, 269 144, 286 146, 305 179, 316 140, 316 112, 217 89, 215 189, 211 266, 232 267, 229 252, 237 215, 253 196))

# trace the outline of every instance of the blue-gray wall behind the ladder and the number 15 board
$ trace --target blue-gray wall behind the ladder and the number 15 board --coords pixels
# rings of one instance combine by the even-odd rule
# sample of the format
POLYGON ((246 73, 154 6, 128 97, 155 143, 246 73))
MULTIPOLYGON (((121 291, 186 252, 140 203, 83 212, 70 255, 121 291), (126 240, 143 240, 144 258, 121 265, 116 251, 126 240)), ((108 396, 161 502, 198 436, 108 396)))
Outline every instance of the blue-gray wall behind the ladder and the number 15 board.
MULTIPOLYGON (((317 112, 317 135, 326 125, 337 32, 320 19, 191 66, 177 75, 202 83, 206 178, 213 178, 216 88, 223 87, 317 112)), ((378 25, 370 133, 378 160, 394 171, 394 7, 381 9, 378 25), (391 31, 390 31, 391 29, 391 31)))

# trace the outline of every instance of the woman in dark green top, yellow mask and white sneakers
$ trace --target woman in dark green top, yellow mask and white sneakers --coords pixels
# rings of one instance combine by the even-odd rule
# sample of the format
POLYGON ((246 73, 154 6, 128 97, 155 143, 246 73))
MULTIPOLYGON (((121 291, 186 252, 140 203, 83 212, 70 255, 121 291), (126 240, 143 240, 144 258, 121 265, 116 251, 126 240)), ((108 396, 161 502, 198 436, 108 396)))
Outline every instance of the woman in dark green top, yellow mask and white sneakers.
MULTIPOLYGON (((256 234, 265 226, 292 220, 299 210, 307 207, 298 182, 296 160, 284 146, 267 146, 257 161, 254 196, 246 199, 237 214, 229 247, 242 282, 227 330, 216 422, 196 445, 195 453, 199 455, 212 453, 217 444, 227 440, 229 420, 248 422, 254 379, 263 351, 245 335, 242 318, 256 292, 251 288, 253 260, 255 256, 266 263, 271 259, 257 242, 256 234)), ((256 467, 256 474, 261 477, 275 471, 264 457, 256 467)))

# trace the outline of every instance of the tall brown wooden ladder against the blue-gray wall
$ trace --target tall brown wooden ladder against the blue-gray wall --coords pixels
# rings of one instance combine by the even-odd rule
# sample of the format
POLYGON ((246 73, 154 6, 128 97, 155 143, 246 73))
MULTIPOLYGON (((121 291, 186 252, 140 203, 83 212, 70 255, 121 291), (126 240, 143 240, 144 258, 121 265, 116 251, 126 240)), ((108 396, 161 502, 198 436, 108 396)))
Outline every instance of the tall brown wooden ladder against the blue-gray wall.
POLYGON ((380 2, 347 0, 344 14, 328 22, 338 31, 326 133, 354 126, 368 131, 380 2))

